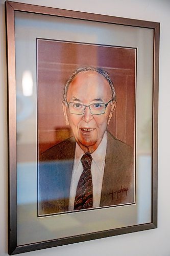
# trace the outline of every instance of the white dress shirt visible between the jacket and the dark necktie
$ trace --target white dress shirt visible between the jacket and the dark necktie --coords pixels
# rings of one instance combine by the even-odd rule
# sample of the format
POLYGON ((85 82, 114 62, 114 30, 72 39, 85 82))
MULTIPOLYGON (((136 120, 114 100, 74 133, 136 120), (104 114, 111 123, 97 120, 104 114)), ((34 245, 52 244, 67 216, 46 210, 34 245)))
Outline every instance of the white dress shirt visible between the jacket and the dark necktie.
MULTIPOLYGON (((100 206, 101 191, 103 183, 103 175, 105 169, 105 157, 107 148, 107 132, 105 132, 103 139, 98 148, 91 154, 91 176, 93 184, 93 208, 100 206)), ((70 184, 70 195, 69 195, 69 210, 74 210, 75 196, 77 185, 80 176, 83 172, 83 165, 81 158, 84 155, 84 151, 76 142, 75 159, 72 170, 71 184, 70 184)))

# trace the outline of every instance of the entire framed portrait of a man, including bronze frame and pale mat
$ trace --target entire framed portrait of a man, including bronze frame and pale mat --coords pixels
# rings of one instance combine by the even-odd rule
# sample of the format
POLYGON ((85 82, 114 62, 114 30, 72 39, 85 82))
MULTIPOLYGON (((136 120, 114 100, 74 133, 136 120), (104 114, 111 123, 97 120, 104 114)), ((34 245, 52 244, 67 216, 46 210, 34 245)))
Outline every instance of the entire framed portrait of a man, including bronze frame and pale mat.
POLYGON ((9 254, 156 228, 159 23, 5 7, 9 254))

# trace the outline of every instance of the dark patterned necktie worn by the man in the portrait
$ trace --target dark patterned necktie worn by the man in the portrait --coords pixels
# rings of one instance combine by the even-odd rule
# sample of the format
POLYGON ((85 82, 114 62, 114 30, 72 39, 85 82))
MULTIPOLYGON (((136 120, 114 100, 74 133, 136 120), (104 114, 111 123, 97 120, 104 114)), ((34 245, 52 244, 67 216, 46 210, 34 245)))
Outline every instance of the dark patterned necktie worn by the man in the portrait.
POLYGON ((92 157, 90 153, 86 153, 81 158, 83 173, 77 185, 74 210, 88 209, 93 206, 91 161, 92 157))

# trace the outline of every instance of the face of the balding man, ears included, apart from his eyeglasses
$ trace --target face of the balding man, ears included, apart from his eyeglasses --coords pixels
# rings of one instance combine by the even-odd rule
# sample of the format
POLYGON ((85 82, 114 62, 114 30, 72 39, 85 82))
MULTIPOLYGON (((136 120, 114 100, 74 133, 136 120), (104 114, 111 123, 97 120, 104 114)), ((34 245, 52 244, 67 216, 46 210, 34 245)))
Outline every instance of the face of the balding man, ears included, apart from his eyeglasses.
MULTIPOLYGON (((92 103, 107 103, 112 99, 108 81, 95 71, 80 72, 69 84, 67 102, 90 105, 92 103)), ((99 146, 107 125, 112 117, 116 102, 110 102, 106 111, 101 115, 92 115, 88 107, 84 114, 77 115, 69 112, 63 102, 66 123, 74 133, 75 139, 84 152, 94 152, 99 146)))

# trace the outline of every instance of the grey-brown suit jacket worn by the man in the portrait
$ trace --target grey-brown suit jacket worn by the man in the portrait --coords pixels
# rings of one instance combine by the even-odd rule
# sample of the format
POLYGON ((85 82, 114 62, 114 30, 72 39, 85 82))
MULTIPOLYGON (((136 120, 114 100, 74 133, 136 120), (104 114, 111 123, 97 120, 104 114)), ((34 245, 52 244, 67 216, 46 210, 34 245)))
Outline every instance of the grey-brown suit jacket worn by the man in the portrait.
MULTIPOLYGON (((68 211, 76 142, 71 137, 39 157, 38 215, 68 211)), ((108 132, 100 207, 134 203, 134 154, 108 132)))

